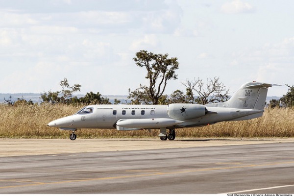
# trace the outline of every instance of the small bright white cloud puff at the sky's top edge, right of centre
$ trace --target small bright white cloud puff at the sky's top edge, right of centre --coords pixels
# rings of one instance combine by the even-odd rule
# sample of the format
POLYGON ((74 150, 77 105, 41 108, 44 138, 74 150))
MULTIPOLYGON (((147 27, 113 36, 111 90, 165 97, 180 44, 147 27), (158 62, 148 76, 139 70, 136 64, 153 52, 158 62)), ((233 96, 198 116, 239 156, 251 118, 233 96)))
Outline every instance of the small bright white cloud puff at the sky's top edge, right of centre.
POLYGON ((251 13, 254 12, 254 8, 247 2, 241 0, 233 0, 226 2, 221 6, 221 11, 225 14, 239 14, 239 13, 251 13))

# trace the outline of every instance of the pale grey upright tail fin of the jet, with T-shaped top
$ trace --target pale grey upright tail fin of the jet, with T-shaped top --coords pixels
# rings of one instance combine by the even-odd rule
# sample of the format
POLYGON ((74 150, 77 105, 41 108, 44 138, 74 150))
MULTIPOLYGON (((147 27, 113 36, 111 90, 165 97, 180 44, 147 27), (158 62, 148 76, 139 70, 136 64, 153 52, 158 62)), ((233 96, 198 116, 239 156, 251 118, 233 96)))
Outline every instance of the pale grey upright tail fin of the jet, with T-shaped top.
POLYGON ((271 86, 271 84, 267 83, 247 82, 228 101, 206 104, 206 106, 264 110, 268 89, 271 86))

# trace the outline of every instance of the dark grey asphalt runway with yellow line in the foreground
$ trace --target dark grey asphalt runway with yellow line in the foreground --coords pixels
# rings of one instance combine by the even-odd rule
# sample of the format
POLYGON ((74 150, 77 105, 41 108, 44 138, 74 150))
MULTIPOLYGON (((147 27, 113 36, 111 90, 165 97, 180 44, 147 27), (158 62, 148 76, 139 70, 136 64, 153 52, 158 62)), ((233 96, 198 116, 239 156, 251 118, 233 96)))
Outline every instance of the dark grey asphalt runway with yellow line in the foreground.
POLYGON ((212 142, 216 145, 2 156, 0 194, 294 193, 293 142, 212 142))

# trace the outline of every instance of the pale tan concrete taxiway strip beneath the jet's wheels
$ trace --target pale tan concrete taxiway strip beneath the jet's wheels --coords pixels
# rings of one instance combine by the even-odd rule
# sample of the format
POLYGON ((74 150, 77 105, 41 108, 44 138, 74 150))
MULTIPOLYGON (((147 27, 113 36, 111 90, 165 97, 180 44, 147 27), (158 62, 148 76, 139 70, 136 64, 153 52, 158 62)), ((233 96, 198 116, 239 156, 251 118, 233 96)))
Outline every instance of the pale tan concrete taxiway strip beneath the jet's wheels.
POLYGON ((180 139, 161 141, 156 139, 0 139, 1 156, 38 154, 63 154, 76 152, 101 152, 142 149, 166 149, 177 147, 210 147, 248 144, 294 142, 293 138, 273 139, 180 139))

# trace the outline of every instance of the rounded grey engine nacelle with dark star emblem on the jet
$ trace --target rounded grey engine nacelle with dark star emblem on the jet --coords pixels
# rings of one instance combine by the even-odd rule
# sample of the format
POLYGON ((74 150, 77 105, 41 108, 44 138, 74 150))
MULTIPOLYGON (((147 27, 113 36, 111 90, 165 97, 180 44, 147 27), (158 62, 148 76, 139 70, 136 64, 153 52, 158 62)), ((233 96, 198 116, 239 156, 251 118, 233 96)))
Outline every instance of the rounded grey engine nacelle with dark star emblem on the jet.
POLYGON ((199 104, 172 103, 168 110, 169 117, 180 121, 196 119, 205 114, 207 114, 205 105, 199 104))

